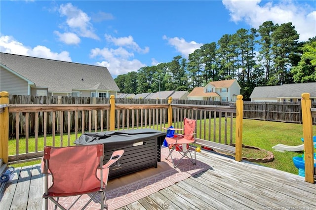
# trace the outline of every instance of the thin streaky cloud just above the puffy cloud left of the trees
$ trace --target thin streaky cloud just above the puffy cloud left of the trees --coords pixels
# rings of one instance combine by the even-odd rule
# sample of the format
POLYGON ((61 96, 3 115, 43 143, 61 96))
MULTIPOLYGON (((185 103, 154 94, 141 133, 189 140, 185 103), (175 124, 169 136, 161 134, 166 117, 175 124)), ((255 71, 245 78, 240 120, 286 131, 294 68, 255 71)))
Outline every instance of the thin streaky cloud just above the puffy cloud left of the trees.
POLYGON ((144 54, 149 52, 149 47, 145 47, 144 49, 140 48, 139 45, 134 41, 134 38, 131 35, 125 36, 125 37, 118 37, 118 38, 113 37, 111 35, 104 35, 104 36, 108 42, 112 42, 116 46, 128 47, 136 52, 144 53, 144 54))

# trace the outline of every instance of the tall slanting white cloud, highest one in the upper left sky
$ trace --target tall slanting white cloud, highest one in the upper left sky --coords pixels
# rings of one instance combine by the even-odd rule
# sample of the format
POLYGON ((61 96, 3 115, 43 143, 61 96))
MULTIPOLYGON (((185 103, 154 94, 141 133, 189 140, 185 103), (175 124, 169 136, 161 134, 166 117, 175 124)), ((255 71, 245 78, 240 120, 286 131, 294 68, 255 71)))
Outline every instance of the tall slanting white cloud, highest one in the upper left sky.
POLYGON ((58 11, 61 14, 61 16, 67 17, 67 29, 69 29, 70 31, 76 33, 81 37, 93 38, 97 40, 100 39, 94 33, 94 28, 90 23, 91 18, 81 9, 78 9, 76 6, 73 6, 72 3, 67 3, 61 4, 58 11))

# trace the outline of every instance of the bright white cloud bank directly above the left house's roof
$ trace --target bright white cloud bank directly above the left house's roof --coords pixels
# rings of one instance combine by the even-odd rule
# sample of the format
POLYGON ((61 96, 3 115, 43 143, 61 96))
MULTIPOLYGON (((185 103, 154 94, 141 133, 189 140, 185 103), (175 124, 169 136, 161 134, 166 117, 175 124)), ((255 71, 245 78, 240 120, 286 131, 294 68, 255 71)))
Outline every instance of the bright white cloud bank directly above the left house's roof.
POLYGON ((0 36, 0 51, 17 55, 26 55, 71 62, 69 52, 67 51, 56 53, 52 52, 49 48, 41 45, 37 45, 32 49, 31 47, 24 46, 21 42, 16 41, 13 36, 8 35, 0 36))

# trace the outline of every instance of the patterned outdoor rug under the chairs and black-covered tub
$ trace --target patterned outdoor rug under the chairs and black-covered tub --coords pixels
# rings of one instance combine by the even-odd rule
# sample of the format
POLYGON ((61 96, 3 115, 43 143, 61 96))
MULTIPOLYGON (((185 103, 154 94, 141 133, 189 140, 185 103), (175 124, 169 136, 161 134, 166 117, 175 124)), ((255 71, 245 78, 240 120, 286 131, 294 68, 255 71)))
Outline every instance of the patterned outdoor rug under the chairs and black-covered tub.
MULTIPOLYGON (((115 210, 131 204, 176 182, 182 181, 210 168, 210 166, 198 160, 196 161, 197 164, 193 165, 190 160, 183 159, 178 165, 178 168, 174 169, 172 163, 165 160, 168 153, 168 148, 164 147, 161 149, 161 162, 158 162, 158 168, 145 169, 130 175, 124 175, 109 180, 106 188, 106 200, 109 210, 115 210)), ((178 152, 174 152, 174 154, 179 155, 178 152)), ((175 164, 176 162, 177 160, 175 160, 175 164)), ((77 196, 64 197, 60 198, 59 201, 67 209, 67 206, 70 207, 76 198, 77 196)), ((98 198, 99 197, 96 199, 98 198)), ((83 195, 72 207, 72 210, 82 208, 89 199, 90 197, 88 195, 83 195)), ((53 203, 49 201, 48 204, 49 209, 53 210, 53 203)), ((100 204, 91 201, 86 209, 100 209, 100 204)))

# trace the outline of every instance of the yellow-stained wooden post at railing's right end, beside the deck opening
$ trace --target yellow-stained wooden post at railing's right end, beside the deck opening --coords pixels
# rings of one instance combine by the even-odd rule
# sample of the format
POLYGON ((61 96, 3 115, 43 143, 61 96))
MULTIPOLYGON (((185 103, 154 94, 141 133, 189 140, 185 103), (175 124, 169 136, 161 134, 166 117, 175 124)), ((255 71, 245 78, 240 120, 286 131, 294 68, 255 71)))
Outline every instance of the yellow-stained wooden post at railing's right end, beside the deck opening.
POLYGON ((242 156, 242 117, 243 117, 243 101, 242 96, 237 96, 236 101, 236 161, 241 161, 242 156))

